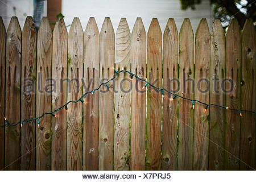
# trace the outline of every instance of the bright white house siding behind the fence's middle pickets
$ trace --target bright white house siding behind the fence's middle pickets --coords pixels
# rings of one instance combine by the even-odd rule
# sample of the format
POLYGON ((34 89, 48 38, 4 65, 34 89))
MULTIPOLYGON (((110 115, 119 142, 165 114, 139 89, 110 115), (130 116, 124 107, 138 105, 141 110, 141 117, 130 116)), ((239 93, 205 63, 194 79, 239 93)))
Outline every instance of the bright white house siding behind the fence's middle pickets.
POLYGON ((200 22, 201 18, 207 18, 209 28, 212 27, 213 10, 209 0, 202 0, 202 3, 196 6, 196 10, 183 11, 180 8, 180 0, 63 0, 62 13, 65 16, 65 23, 71 24, 73 17, 80 18, 82 28, 85 29, 90 16, 96 18, 99 30, 105 16, 112 20, 114 30, 117 30, 119 20, 122 17, 127 19, 130 30, 132 30, 137 17, 141 17, 146 32, 152 18, 158 18, 161 30, 166 27, 168 18, 174 18, 178 30, 184 18, 189 18, 193 31, 200 22))

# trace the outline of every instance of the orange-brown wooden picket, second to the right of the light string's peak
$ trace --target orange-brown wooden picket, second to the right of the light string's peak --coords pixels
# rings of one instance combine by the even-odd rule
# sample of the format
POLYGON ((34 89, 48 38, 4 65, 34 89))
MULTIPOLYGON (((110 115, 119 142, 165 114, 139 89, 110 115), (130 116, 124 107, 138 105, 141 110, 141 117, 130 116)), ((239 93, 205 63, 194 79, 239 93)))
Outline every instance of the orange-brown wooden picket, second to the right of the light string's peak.
MULTIPOLYGON (((162 32, 153 18, 147 34, 147 81, 162 88, 162 32)), ((147 88, 147 155, 146 169, 161 169, 162 93, 147 88)))

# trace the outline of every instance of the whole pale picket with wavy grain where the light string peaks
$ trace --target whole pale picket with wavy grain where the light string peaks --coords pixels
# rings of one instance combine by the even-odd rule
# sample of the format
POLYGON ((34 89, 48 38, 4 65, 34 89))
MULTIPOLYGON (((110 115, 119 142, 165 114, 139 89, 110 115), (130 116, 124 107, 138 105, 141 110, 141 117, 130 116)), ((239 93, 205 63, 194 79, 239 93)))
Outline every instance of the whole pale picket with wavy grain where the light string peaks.
MULTIPOLYGON (((131 71, 131 34, 125 18, 121 18, 115 35, 115 69, 131 71)), ((114 170, 130 167, 130 75, 126 72, 115 79, 114 170)))

